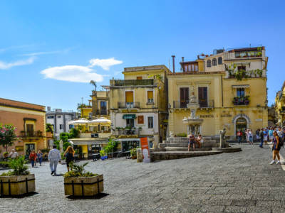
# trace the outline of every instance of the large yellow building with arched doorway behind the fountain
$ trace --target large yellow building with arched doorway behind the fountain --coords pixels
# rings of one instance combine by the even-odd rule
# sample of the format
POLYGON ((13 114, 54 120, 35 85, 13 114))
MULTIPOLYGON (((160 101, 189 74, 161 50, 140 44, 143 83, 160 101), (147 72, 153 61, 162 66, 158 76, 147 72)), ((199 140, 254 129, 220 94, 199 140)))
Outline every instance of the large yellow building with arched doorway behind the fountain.
POLYGON ((182 58, 182 72, 167 75, 169 132, 190 133, 183 119, 190 117, 192 94, 199 104, 196 115, 203 121, 198 131, 203 136, 218 136, 225 128, 234 139, 239 129, 267 126, 267 60, 264 47, 217 50, 187 62, 182 58))

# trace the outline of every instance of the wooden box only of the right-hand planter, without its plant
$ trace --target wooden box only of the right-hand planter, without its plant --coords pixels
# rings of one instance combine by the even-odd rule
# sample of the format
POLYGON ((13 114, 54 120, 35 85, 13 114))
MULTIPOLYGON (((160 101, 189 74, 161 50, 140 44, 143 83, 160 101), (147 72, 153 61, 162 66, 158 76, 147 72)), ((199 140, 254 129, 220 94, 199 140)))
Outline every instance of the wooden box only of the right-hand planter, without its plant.
POLYGON ((64 178, 64 194, 72 196, 94 196, 103 192, 103 175, 94 177, 64 178))

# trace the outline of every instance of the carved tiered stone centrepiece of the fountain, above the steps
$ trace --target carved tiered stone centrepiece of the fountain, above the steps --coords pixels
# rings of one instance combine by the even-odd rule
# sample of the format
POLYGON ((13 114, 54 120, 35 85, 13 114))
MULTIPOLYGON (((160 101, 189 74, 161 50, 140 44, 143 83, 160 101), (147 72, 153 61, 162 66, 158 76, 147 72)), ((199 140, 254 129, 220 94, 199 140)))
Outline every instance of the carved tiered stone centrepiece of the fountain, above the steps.
POLYGON ((188 125, 188 134, 199 134, 201 133, 201 125, 203 119, 199 119, 199 116, 196 116, 196 111, 199 108, 199 103, 197 102, 197 98, 194 95, 194 86, 191 87, 191 97, 189 99, 189 104, 187 104, 187 108, 190 109, 191 114, 189 117, 185 117, 183 119, 183 124, 188 125))

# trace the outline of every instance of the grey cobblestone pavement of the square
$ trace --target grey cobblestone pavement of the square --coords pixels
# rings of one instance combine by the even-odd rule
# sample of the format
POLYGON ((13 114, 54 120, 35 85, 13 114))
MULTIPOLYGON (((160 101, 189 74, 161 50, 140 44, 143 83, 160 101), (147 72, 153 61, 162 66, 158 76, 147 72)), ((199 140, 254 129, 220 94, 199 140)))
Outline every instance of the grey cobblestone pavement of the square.
MULTIPOLYGON (((90 161, 109 195, 88 200, 65 197, 63 177, 52 177, 45 163, 31 169, 38 194, 0 198, 0 212, 285 212, 285 171, 269 165, 271 150, 242 149, 156 163, 90 161)), ((59 165, 58 173, 65 171, 59 165)))

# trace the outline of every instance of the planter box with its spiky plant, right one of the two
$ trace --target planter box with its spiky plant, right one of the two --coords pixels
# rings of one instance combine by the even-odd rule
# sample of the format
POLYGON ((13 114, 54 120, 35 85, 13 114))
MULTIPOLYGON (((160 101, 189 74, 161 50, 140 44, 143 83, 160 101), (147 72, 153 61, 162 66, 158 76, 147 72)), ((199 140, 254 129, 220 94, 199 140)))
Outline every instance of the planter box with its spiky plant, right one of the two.
POLYGON ((88 163, 76 165, 71 163, 71 170, 64 174, 64 194, 72 196, 94 196, 103 192, 103 175, 85 170, 88 163))

